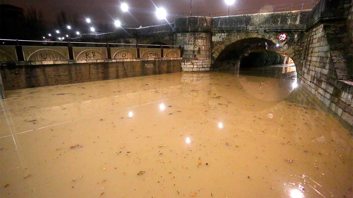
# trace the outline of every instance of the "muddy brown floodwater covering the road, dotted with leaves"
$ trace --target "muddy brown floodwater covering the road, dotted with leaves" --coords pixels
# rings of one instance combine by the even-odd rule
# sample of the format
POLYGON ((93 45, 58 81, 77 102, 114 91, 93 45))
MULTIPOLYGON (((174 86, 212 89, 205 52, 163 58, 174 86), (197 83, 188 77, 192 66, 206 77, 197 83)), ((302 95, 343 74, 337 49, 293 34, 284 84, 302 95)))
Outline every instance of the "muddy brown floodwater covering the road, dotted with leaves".
POLYGON ((0 196, 353 197, 351 129, 295 77, 262 76, 6 91, 0 196))

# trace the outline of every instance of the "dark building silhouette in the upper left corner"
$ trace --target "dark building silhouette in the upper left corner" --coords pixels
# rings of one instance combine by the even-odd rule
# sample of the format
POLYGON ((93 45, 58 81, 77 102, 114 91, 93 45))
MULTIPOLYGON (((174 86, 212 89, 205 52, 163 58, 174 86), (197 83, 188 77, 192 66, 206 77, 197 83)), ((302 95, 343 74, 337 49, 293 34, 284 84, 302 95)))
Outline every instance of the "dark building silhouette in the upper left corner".
POLYGON ((25 23, 23 8, 0 5, 0 38, 19 38, 25 23))

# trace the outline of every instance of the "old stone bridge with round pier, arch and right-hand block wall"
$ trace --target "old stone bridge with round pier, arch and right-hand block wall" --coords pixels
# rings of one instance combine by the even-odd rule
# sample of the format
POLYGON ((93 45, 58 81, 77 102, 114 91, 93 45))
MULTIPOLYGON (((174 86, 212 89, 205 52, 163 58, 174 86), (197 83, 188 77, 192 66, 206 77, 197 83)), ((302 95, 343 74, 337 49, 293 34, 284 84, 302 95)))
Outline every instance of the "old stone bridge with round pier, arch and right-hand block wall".
POLYGON ((353 125, 352 7, 352 0, 321 0, 304 11, 182 17, 174 24, 130 29, 128 35, 116 32, 91 41, 183 45, 181 68, 192 72, 221 67, 229 55, 240 59, 257 43, 279 44, 293 59, 301 87, 353 125), (288 35, 285 42, 277 38, 282 32, 288 35))

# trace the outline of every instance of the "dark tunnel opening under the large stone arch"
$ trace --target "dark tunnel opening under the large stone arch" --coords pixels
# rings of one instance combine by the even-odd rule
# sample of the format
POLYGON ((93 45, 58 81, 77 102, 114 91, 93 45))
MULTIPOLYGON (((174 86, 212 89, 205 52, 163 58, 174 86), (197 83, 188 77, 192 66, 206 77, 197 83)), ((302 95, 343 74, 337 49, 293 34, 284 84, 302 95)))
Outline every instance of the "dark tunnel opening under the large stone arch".
POLYGON ((248 70, 293 63, 284 50, 265 38, 246 38, 228 45, 216 58, 213 70, 248 70))

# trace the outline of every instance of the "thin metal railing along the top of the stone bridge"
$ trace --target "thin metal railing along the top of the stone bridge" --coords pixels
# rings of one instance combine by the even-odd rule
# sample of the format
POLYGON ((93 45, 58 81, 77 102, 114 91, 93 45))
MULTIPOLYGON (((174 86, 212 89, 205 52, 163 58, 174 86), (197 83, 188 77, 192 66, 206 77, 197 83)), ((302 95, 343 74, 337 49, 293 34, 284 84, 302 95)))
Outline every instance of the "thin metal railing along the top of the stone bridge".
POLYGON ((317 4, 317 0, 310 1, 301 1, 297 3, 291 4, 280 4, 274 6, 266 6, 266 7, 258 7, 258 8, 250 8, 245 10, 234 10, 228 12, 219 12, 219 13, 205 13, 205 12, 193 12, 181 13, 175 15, 175 18, 179 17, 187 17, 187 16, 199 16, 199 17, 222 17, 222 16, 233 16, 233 15, 241 15, 241 14, 259 14, 259 13, 273 13, 273 12, 285 12, 285 11, 302 11, 309 10, 315 7, 317 4))

